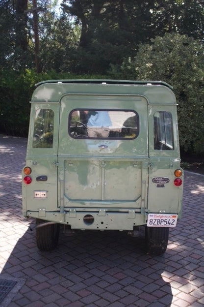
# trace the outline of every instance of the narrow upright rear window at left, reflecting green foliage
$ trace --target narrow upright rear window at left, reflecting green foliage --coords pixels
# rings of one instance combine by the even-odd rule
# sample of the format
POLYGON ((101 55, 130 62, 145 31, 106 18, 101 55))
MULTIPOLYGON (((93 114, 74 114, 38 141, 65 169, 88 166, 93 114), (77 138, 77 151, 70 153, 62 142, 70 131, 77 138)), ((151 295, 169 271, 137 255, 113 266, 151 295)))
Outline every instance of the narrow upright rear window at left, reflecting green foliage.
POLYGON ((33 148, 53 147, 54 112, 51 109, 39 109, 35 113, 33 148))

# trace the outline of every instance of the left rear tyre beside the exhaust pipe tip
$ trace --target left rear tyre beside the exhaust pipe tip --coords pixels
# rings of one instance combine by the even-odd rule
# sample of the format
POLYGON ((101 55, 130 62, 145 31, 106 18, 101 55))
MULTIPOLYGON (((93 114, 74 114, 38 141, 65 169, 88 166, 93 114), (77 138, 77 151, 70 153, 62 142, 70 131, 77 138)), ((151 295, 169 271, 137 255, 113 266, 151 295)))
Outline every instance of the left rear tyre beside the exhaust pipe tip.
MULTIPOLYGON (((46 222, 45 220, 36 218, 36 225, 46 222)), ((36 228, 36 244, 40 250, 54 249, 59 240, 59 224, 45 225, 36 228)))

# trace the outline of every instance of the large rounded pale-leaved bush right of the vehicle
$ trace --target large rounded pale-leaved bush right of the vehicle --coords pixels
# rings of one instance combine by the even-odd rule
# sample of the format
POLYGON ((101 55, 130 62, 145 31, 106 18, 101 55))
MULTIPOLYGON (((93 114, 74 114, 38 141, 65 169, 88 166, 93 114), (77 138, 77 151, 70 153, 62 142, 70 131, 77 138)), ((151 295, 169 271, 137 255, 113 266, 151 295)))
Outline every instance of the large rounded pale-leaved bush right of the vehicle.
POLYGON ((187 35, 167 33, 141 44, 134 58, 124 60, 112 77, 162 80, 174 87, 178 100, 180 145, 204 153, 204 46, 187 35))

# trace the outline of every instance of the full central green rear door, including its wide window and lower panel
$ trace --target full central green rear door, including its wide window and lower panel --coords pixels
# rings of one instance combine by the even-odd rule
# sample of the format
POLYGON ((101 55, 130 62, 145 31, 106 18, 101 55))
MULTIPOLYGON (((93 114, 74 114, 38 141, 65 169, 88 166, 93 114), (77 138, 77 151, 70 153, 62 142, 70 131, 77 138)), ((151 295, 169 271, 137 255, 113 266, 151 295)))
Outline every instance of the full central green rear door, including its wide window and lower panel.
POLYGON ((149 165, 147 120, 147 101, 142 96, 62 98, 58 149, 61 209, 144 211, 149 165), (89 136, 89 119, 100 112, 107 112, 111 121, 105 127, 108 136, 89 136))

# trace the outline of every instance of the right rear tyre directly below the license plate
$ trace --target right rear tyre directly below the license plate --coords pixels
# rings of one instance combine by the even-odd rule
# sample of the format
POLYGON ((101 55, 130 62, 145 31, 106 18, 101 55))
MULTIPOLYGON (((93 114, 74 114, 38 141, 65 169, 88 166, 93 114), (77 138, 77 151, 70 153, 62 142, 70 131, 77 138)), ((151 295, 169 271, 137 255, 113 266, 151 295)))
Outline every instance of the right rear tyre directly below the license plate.
POLYGON ((151 255, 161 255, 166 251, 169 240, 169 227, 145 226, 145 241, 147 252, 151 255))

